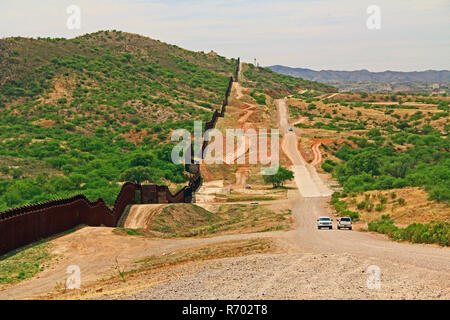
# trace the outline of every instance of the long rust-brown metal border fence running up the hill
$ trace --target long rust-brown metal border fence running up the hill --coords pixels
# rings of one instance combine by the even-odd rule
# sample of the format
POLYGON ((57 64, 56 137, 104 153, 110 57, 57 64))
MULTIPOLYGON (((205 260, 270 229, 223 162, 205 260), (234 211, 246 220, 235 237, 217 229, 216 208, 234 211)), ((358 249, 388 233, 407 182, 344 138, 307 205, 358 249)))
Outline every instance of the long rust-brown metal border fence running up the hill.
MULTIPOLYGON (((215 127, 228 105, 233 82, 238 81, 240 58, 237 60, 235 78, 230 77, 220 111, 215 110, 205 124, 205 130, 215 127)), ((207 142, 202 144, 202 153, 207 142)), ((189 164, 193 175, 187 186, 172 194, 167 186, 123 184, 114 206, 109 208, 103 199, 91 202, 81 194, 71 198, 52 200, 0 212, 0 255, 59 234, 78 225, 117 226, 125 208, 135 203, 189 203, 193 193, 202 183, 199 164, 189 164), (193 170, 192 166, 196 168, 193 170)), ((186 166, 187 168, 187 166, 186 166)))

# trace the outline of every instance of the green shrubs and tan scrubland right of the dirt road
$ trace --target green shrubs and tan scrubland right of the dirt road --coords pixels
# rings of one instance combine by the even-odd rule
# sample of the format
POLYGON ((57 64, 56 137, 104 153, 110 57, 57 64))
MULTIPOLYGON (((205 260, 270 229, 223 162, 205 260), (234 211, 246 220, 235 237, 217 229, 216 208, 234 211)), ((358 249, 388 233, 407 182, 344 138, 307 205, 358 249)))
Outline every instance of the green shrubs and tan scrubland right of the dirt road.
POLYGON ((309 91, 289 109, 300 119, 301 146, 322 141, 320 167, 342 186, 331 200, 338 215, 396 240, 447 245, 448 97, 309 91))

